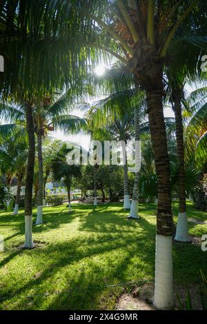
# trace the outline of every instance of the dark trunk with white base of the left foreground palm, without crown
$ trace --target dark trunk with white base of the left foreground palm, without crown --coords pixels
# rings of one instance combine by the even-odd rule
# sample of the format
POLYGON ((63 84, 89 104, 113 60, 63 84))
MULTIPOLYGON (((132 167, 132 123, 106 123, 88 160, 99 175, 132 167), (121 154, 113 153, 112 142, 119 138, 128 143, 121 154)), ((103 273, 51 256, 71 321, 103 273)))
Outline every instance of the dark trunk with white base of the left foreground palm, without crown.
POLYGON ((32 118, 32 107, 26 105, 26 123, 28 133, 28 164, 26 170, 26 189, 25 189, 25 244, 24 247, 32 248, 32 185, 34 179, 34 124, 32 118))

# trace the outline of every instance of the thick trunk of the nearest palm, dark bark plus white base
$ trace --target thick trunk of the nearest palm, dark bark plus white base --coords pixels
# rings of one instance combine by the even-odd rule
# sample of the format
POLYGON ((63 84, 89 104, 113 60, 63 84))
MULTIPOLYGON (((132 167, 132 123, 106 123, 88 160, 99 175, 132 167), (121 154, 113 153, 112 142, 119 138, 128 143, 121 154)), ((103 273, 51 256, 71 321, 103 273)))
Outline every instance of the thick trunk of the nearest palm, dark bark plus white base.
POLYGON ((162 71, 157 73, 156 78, 145 88, 148 103, 150 134, 158 178, 154 305, 159 309, 168 309, 173 305, 172 211, 170 163, 162 104, 162 71))

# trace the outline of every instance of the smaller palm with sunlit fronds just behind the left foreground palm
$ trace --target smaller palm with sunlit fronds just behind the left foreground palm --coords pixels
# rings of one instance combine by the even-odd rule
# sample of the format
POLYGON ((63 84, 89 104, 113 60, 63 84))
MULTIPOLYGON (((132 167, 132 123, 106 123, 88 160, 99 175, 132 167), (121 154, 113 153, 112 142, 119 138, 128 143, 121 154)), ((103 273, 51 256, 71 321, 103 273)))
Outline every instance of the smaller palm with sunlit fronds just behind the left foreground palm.
MULTIPOLYGON (((42 159, 42 140, 46 137, 48 131, 61 128, 65 132, 78 132, 86 124, 84 119, 76 117, 68 112, 68 94, 63 94, 53 104, 50 97, 45 97, 39 106, 33 109, 34 132, 37 134, 37 152, 39 165, 39 184, 37 194, 37 221, 36 225, 42 223, 42 206, 43 206, 43 159, 42 159)), ((14 123, 26 125, 25 111, 23 107, 14 105, 1 105, 0 116, 12 122, 7 124, 10 129, 14 123)), ((0 126, 1 127, 1 126, 0 126)))

